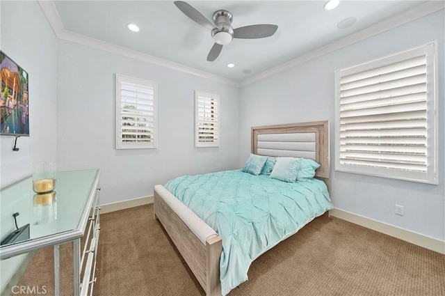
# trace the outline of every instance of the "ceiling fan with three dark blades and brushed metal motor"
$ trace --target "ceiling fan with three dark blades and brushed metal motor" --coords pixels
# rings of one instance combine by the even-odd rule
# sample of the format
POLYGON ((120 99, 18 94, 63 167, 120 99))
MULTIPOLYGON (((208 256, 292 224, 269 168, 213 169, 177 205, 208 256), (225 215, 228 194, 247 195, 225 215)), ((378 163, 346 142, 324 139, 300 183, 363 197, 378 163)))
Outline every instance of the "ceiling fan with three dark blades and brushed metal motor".
POLYGON ((193 6, 184 1, 175 1, 175 5, 184 15, 190 17, 204 28, 211 30, 211 36, 215 40, 215 44, 211 47, 207 61, 213 62, 220 55, 223 45, 227 45, 234 38, 241 39, 257 39, 270 37, 275 34, 278 29, 276 24, 254 24, 251 26, 241 26, 240 28, 232 28, 232 13, 227 10, 217 10, 213 13, 213 22, 204 17, 193 6))

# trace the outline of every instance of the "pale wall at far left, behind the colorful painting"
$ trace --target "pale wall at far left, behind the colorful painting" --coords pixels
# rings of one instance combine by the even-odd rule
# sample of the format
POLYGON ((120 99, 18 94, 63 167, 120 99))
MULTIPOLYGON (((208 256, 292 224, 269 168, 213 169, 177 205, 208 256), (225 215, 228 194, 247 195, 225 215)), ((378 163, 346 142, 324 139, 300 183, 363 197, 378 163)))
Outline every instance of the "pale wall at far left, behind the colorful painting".
MULTIPOLYGON (((29 74, 31 134, 17 139, 17 152, 13 151, 13 137, 0 137, 0 187, 4 188, 30 176, 32 162, 56 161, 57 38, 37 1, 0 1, 0 10, 0 48, 29 74)), ((20 208, 2 206, 1 238, 15 229, 14 212, 20 208)), ((20 226, 24 224, 24 217, 17 218, 20 226)), ((23 258, 1 261, 0 290, 23 258)))

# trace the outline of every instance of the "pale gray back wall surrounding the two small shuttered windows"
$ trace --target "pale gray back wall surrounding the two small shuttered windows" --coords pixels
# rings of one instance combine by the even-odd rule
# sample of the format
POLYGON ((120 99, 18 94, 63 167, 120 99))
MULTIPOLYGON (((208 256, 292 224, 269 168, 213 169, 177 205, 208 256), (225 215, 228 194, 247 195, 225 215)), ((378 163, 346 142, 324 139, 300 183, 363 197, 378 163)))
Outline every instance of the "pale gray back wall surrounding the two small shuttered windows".
MULTIPOLYGON (((149 46, 149 43, 147 43, 149 46)), ((153 194, 184 174, 238 167, 239 89, 99 49, 59 41, 58 168, 99 168, 101 203, 153 194), (115 149, 115 75, 157 81, 157 149, 115 149), (194 147, 194 91, 220 95, 220 147, 194 147)))

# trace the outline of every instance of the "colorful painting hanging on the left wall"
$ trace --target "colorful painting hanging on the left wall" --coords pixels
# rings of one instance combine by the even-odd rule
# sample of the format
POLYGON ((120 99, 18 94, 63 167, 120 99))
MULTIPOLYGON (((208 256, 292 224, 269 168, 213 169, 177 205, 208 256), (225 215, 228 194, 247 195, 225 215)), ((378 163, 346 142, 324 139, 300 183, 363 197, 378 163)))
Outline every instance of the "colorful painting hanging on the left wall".
POLYGON ((0 134, 29 136, 28 73, 0 51, 0 134))

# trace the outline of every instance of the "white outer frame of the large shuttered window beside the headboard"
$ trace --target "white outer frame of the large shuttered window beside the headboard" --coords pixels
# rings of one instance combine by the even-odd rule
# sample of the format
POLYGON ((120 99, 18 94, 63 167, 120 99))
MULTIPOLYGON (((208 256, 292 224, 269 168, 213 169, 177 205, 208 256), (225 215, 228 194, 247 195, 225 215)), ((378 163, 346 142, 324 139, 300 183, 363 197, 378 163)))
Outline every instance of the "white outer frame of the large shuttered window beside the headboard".
POLYGON ((438 116, 437 116, 437 42, 431 42, 421 47, 409 49, 405 52, 393 54, 391 56, 376 59, 361 65, 335 71, 335 170, 349 173, 359 173, 370 176, 380 176, 399 180, 410 180, 414 182, 424 182, 438 184, 438 116), (416 54, 426 54, 426 88, 427 88, 427 130, 426 130, 426 172, 405 171, 397 169, 386 169, 371 166, 355 166, 341 164, 340 162, 340 77, 362 72, 370 68, 378 68, 383 65, 396 63, 414 57, 416 54))

